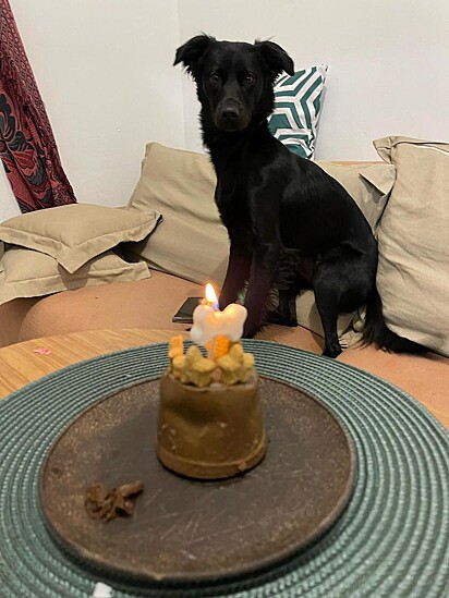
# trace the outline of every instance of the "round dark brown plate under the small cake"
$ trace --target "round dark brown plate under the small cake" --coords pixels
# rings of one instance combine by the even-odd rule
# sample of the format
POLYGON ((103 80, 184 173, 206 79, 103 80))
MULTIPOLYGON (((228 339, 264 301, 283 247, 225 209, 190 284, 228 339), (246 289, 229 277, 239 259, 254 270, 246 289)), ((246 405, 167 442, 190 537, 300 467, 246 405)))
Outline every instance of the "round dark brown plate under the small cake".
POLYGON ((195 481, 156 457, 159 382, 126 388, 77 417, 40 474, 53 539, 72 557, 123 582, 215 582, 266 570, 303 550, 336 522, 354 480, 354 451, 315 398, 260 379, 265 460, 223 481, 195 481), (142 479, 131 517, 109 523, 84 509, 86 488, 142 479))

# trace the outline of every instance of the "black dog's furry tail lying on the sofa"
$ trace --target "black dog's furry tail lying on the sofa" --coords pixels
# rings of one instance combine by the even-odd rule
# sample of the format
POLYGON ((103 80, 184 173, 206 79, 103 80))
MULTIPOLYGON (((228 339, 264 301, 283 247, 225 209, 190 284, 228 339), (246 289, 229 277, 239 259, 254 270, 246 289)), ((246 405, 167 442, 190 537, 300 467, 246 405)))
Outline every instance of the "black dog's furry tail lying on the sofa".
POLYGON ((428 349, 422 344, 399 337, 399 334, 387 328, 381 309, 381 300, 376 285, 373 286, 373 291, 366 302, 363 343, 373 343, 378 349, 384 349, 385 351, 393 353, 425 353, 428 351, 428 349))

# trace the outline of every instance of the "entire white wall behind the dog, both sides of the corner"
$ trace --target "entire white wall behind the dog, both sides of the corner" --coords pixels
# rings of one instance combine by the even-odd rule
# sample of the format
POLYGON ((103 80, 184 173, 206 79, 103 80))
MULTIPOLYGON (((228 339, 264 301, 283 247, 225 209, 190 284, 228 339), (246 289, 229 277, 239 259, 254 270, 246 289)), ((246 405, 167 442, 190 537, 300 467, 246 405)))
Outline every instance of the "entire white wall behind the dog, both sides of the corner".
MULTIPOLYGON (((202 30, 330 65, 317 158, 376 159, 372 141, 391 134, 449 141, 447 0, 10 3, 81 202, 124 205, 148 141, 202 148, 193 83, 172 68, 202 30)), ((13 211, 1 172, 0 218, 13 211)))

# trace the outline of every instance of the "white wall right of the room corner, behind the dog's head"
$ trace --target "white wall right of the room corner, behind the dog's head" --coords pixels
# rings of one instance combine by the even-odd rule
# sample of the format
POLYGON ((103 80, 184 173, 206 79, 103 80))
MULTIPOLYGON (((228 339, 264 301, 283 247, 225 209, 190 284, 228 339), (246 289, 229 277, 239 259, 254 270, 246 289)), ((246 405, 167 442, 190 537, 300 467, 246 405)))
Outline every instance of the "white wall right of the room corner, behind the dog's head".
MULTIPOLYGON (((449 142, 447 0, 189 0, 184 42, 272 38, 295 66, 330 65, 318 159, 376 159, 372 141, 402 134, 449 142)), ((184 83, 186 146, 199 147, 192 83, 184 83)))

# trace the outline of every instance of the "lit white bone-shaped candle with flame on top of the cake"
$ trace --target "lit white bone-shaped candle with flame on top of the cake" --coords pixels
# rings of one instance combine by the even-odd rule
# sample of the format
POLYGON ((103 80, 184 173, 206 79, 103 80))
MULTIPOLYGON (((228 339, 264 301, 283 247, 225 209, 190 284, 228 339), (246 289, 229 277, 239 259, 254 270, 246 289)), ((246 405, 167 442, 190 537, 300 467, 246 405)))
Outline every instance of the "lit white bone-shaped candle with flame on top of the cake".
POLYGON ((227 337, 230 341, 236 342, 242 338, 246 316, 246 308, 236 303, 231 303, 220 312, 217 295, 210 284, 206 301, 195 307, 193 313, 191 339, 203 346, 216 337, 227 337))

